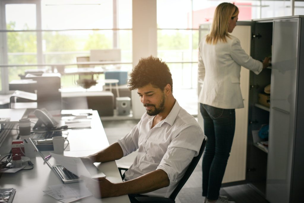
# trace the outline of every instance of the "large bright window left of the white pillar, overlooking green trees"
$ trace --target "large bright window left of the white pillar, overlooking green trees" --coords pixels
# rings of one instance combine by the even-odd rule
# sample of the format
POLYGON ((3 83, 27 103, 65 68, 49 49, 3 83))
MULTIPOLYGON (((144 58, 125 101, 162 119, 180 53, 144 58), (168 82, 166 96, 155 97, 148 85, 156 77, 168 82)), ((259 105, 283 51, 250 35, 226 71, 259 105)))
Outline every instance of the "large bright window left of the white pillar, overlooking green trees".
MULTIPOLYGON (((70 64, 91 49, 121 49, 123 69, 132 68, 131 0, 0 0, 2 77, 20 79, 26 69, 70 64), (16 15, 17 14, 17 15, 16 15), (14 66, 15 65, 15 66, 14 66), (4 74, 4 75, 3 75, 4 74)), ((66 68, 76 67, 67 65, 66 68)), ((55 68, 56 69, 56 68, 55 68)), ((56 70, 55 70, 56 71, 56 70)), ((62 86, 74 86, 72 76, 62 75, 62 86)), ((0 79, 1 80, 1 79, 0 79)), ((8 84, 1 81, 2 93, 8 84)))

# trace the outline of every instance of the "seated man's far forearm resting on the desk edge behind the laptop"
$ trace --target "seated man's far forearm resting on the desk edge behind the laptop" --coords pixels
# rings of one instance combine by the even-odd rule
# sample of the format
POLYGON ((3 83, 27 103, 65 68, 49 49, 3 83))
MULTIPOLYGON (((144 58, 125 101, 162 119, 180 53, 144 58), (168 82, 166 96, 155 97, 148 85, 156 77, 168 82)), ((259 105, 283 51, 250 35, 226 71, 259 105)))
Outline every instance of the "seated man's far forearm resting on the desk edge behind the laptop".
POLYGON ((117 142, 89 156, 89 158, 93 162, 114 161, 122 157, 123 157, 123 150, 121 149, 120 145, 117 142))

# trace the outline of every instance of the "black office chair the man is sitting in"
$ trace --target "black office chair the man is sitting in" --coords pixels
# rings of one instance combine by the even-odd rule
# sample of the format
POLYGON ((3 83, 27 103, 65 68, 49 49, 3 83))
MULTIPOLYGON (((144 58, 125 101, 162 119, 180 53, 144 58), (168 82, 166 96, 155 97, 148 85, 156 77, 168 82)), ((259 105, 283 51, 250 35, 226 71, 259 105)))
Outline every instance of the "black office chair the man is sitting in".
MULTIPOLYGON (((186 170, 184 176, 181 178, 181 180, 179 181, 177 187, 174 189, 174 191, 172 192, 172 194, 170 195, 169 198, 164 198, 164 197, 135 197, 135 199, 138 201, 138 203, 140 202, 144 202, 144 203, 175 203, 175 198, 177 196, 177 194, 179 193, 179 191, 181 190, 181 188, 184 186, 184 184, 187 182, 188 178, 190 177, 190 175, 192 174, 193 170, 195 169, 197 163, 199 162, 199 159, 202 156, 202 153, 205 149, 206 146, 206 142, 207 142, 207 137, 205 135, 202 145, 201 145, 201 149, 199 150, 199 154, 195 157, 193 157, 191 163, 188 166, 188 169, 186 170)), ((124 178, 124 174, 122 174, 122 171, 126 171, 128 170, 128 168, 122 168, 119 167, 119 172, 122 176, 122 178, 124 178)))

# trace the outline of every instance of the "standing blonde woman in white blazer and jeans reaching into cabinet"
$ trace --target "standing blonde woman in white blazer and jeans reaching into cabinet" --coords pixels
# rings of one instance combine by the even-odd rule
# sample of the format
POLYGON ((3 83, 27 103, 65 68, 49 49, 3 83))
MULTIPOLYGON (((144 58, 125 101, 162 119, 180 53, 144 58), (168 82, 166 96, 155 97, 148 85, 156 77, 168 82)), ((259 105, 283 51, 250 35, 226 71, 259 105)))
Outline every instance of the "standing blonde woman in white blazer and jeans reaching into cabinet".
POLYGON ((239 9, 231 3, 216 7, 212 28, 199 45, 199 94, 204 132, 208 137, 203 156, 202 195, 205 202, 232 202, 219 196, 235 130, 235 109, 243 108, 240 89, 241 66, 259 74, 268 67, 250 57, 231 33, 236 26, 239 9))

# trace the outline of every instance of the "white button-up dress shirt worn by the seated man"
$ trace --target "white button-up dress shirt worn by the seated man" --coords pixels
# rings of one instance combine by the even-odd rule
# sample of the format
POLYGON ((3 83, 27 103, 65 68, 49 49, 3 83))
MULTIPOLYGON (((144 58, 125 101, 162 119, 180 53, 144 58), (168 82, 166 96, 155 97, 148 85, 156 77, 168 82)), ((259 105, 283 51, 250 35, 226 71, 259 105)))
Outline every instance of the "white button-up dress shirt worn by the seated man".
POLYGON ((195 118, 177 101, 168 116, 151 128, 153 119, 154 116, 143 114, 132 131, 117 142, 123 156, 138 149, 136 159, 125 173, 125 180, 161 169, 168 175, 169 186, 144 195, 169 197, 192 158, 198 155, 204 133, 195 118))

